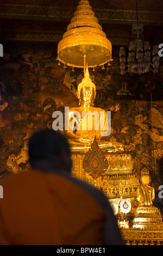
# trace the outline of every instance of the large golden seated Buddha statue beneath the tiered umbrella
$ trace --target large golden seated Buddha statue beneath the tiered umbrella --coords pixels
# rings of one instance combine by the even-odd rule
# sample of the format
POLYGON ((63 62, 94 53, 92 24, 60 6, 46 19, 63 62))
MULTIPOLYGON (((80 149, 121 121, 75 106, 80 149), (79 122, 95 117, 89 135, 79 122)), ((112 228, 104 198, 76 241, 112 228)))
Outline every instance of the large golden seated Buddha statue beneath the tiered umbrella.
POLYGON ((122 143, 106 141, 111 130, 111 115, 102 108, 93 106, 96 97, 96 86, 89 77, 86 68, 82 83, 78 84, 77 97, 79 107, 69 109, 68 129, 65 130, 72 151, 87 151, 95 139, 103 151, 122 151, 122 143))

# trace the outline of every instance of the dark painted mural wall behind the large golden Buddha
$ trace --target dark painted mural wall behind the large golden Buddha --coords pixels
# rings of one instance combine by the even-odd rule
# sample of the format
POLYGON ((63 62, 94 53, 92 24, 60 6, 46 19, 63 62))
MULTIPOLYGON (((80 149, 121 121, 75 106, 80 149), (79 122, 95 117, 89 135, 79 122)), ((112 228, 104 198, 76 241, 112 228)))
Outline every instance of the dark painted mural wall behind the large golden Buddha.
MULTIPOLYGON (((145 166, 153 185, 163 184, 163 59, 158 74, 121 75, 118 47, 111 65, 89 70, 96 84, 95 106, 111 111, 108 141, 122 142, 139 176, 145 166)), ((76 91, 83 70, 59 65, 56 44, 4 43, 0 58, 0 176, 21 172, 28 164, 28 138, 52 129, 52 113, 78 106, 76 91)))

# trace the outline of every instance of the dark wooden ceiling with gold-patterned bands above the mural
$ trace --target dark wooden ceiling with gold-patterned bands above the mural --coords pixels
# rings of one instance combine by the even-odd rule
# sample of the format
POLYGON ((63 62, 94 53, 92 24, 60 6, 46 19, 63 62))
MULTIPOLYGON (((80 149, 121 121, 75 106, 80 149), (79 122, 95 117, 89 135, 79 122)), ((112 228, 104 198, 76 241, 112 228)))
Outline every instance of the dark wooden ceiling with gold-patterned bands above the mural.
MULTIPOLYGON (((90 0, 112 45, 128 45, 136 21, 136 0, 90 0)), ((59 42, 78 0, 0 0, 1 40, 59 42)), ((139 21, 151 46, 163 43, 162 0, 137 0, 139 21)))

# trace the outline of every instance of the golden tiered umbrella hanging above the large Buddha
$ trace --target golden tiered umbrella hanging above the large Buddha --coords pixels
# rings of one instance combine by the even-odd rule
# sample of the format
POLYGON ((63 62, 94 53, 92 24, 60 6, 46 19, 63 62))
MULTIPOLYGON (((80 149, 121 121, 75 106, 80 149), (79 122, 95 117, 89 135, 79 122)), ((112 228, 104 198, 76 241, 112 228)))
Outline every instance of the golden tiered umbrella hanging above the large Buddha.
POLYGON ((111 60, 111 42, 102 31, 89 1, 79 2, 67 32, 58 44, 58 60, 68 66, 88 68, 111 60))

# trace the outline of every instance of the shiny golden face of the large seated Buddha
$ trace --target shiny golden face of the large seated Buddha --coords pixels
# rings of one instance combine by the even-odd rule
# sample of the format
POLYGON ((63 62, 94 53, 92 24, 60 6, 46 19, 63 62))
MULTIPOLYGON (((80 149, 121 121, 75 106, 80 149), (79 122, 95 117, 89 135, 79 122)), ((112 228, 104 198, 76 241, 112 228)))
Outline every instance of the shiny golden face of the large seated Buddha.
POLYGON ((92 87, 82 87, 82 89, 80 90, 80 100, 83 103, 87 103, 90 105, 90 103, 93 102, 93 100, 95 99, 95 90, 92 87))

